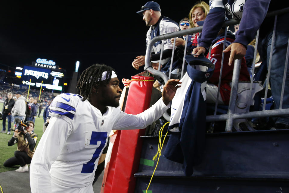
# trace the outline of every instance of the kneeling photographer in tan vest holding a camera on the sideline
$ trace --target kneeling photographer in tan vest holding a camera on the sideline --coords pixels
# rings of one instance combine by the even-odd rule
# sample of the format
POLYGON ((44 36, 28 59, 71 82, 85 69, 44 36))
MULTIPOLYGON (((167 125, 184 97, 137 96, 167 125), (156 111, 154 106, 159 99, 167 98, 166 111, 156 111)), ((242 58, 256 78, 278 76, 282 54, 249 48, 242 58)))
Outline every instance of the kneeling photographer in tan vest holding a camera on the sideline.
POLYGON ((32 156, 35 152, 35 145, 37 141, 36 133, 33 133, 34 123, 28 121, 25 124, 19 124, 15 128, 13 137, 8 141, 8 146, 17 144, 17 151, 14 152, 15 157, 11 157, 3 164, 5 167, 20 165, 16 172, 28 171, 28 165, 31 163, 32 156), (29 123, 29 124, 28 124, 29 123), (23 125, 27 125, 27 127, 23 125))

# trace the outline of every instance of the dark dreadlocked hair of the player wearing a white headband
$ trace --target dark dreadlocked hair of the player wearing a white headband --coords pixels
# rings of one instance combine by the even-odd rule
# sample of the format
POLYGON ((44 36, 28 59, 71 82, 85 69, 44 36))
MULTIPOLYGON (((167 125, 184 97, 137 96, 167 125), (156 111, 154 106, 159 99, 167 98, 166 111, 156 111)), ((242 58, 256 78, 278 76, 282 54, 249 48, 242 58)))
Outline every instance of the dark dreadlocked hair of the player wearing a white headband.
POLYGON ((98 90, 100 84, 108 84, 111 79, 111 71, 113 70, 113 68, 105 64, 95 64, 86 68, 80 75, 76 86, 76 88, 79 89, 79 94, 83 96, 82 101, 85 101, 89 97, 93 87, 98 90), (101 81, 104 71, 109 71, 109 73, 106 74, 106 79, 101 81))

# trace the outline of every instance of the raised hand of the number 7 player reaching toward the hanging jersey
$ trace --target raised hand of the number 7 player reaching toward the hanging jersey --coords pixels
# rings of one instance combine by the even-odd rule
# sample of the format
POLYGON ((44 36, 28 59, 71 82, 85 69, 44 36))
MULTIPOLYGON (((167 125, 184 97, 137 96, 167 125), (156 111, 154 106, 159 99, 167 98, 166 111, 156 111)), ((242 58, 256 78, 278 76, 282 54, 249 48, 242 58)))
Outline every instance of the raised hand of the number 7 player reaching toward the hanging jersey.
POLYGON ((179 79, 169 79, 165 86, 163 86, 162 98, 165 105, 168 105, 169 102, 172 101, 177 89, 181 87, 181 85, 178 84, 182 84, 179 79))

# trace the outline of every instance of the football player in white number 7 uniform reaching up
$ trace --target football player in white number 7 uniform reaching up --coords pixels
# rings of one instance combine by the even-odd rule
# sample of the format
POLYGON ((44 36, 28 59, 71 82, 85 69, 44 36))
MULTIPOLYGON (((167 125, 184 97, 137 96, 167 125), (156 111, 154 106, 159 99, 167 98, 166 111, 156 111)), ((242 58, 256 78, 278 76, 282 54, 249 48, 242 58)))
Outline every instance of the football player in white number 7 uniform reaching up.
POLYGON ((51 119, 30 166, 34 192, 93 192, 98 159, 111 130, 139 129, 158 119, 169 107, 179 80, 170 79, 162 98, 138 115, 122 112, 122 90, 113 69, 92 65, 80 76, 78 94, 63 93, 48 108, 51 119))

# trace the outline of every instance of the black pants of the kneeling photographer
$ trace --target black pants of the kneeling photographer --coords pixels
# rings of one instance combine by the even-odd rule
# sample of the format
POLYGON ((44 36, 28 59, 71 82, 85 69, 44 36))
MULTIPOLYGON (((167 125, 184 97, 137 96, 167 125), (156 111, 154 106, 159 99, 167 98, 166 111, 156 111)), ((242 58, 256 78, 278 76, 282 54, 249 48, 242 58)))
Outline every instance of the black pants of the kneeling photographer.
POLYGON ((14 152, 15 157, 11 157, 8 160, 6 160, 3 164, 5 167, 11 167, 15 165, 20 165, 21 167, 25 166, 25 164, 30 164, 32 158, 27 155, 24 151, 15 151, 14 152))

